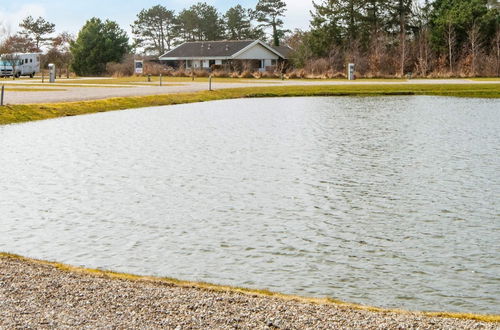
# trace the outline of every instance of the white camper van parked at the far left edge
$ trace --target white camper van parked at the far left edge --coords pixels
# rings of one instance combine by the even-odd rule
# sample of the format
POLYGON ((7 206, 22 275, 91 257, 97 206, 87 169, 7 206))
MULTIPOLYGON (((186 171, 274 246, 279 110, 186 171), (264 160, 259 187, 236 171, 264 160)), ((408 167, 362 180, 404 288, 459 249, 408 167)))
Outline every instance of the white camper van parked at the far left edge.
POLYGON ((6 54, 0 59, 0 76, 33 78, 40 72, 40 53, 6 54))

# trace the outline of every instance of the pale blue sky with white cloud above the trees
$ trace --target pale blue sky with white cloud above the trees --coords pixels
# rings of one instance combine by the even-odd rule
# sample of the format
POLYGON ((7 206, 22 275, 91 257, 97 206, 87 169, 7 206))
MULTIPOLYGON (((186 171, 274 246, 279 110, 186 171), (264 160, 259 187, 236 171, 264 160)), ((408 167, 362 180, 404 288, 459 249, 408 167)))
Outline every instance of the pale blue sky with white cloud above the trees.
MULTIPOLYGON (((294 30, 308 29, 312 0, 284 0, 287 4, 285 28, 294 30)), ((15 33, 20 21, 28 15, 42 16, 56 24, 56 31, 77 34, 87 19, 99 17, 116 21, 130 33, 130 24, 144 8, 163 5, 176 12, 197 2, 206 2, 215 6, 219 12, 238 4, 255 8, 257 0, 0 0, 0 34, 15 33)))

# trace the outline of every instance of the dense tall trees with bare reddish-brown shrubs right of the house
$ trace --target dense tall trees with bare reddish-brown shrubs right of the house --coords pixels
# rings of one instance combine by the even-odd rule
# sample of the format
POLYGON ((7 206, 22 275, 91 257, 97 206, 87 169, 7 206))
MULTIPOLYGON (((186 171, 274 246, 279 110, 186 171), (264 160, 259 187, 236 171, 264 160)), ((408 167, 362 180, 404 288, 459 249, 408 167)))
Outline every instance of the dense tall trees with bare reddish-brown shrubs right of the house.
POLYGON ((500 74, 496 0, 317 0, 311 29, 288 37, 296 67, 363 76, 500 74))

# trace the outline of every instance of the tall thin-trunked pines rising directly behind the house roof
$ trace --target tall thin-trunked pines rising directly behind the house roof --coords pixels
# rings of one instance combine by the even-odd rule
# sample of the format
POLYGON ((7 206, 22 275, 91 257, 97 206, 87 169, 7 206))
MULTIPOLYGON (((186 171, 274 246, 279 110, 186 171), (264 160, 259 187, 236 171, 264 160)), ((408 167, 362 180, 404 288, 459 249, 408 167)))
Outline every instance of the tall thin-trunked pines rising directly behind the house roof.
POLYGON ((283 29, 286 3, 260 0, 255 8, 236 5, 224 14, 205 2, 199 2, 178 14, 162 5, 143 9, 132 24, 134 47, 162 55, 172 46, 186 41, 265 40, 264 29, 272 30, 272 41, 279 46, 287 30, 283 29))

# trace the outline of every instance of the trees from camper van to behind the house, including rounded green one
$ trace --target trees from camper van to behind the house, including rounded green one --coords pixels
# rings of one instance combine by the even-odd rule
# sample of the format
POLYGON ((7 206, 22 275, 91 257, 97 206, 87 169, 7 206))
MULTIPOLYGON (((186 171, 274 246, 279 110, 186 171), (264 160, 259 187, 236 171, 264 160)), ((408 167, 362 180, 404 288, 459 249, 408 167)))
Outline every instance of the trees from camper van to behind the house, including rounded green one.
POLYGON ((44 62, 69 68, 78 75, 100 75, 106 64, 120 62, 128 53, 160 56, 186 41, 266 40, 265 30, 272 30, 279 45, 287 30, 283 29, 286 4, 282 0, 259 0, 255 8, 236 5, 225 13, 205 2, 199 2, 176 13, 165 6, 143 9, 131 25, 132 40, 116 23, 99 18, 89 19, 76 37, 61 33, 50 38, 55 25, 29 16, 19 25, 19 33, 0 43, 0 54, 40 52, 48 49, 44 62))

